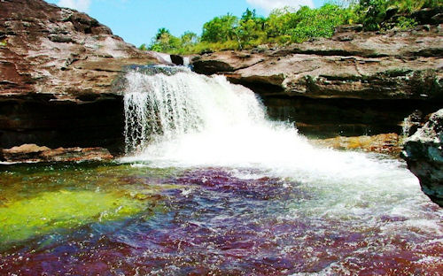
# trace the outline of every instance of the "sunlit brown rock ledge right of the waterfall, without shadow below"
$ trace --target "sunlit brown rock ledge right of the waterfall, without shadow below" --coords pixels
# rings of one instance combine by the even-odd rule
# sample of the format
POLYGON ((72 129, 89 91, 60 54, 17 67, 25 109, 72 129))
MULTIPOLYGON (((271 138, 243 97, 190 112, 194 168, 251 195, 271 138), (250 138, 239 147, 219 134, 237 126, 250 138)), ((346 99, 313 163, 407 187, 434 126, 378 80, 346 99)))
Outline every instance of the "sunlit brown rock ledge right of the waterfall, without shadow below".
POLYGON ((435 26, 429 32, 339 33, 260 53, 207 54, 193 65, 198 73, 225 73, 263 96, 442 100, 441 41, 435 26))

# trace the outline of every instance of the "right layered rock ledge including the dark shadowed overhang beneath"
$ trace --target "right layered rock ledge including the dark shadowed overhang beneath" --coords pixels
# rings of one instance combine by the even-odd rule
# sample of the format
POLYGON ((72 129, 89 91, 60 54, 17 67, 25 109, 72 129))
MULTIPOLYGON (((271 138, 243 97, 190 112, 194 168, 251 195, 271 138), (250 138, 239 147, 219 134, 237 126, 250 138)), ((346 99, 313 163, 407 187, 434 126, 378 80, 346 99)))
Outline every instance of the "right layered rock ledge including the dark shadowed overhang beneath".
POLYGON ((442 25, 385 34, 340 27, 331 39, 205 54, 192 64, 252 88, 271 117, 293 119, 301 131, 400 132, 416 109, 442 106, 442 35, 442 25))

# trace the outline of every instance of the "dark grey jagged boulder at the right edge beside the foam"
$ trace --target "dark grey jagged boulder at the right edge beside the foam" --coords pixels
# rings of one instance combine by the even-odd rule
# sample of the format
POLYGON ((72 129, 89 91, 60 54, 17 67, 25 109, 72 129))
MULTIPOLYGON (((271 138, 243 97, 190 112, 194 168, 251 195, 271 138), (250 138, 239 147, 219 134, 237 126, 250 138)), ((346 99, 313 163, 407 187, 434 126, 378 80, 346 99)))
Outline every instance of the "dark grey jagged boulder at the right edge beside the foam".
POLYGON ((443 207, 443 109, 406 141, 402 157, 424 193, 443 207))

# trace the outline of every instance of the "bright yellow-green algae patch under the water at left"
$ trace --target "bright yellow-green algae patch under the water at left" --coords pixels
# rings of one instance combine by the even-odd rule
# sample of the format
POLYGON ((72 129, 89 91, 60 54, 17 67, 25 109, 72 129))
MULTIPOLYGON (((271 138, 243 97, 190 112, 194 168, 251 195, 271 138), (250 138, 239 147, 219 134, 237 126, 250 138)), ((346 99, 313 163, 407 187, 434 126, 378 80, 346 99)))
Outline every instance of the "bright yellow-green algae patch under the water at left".
POLYGON ((0 242, 22 241, 58 228, 122 219, 144 209, 144 202, 117 193, 46 192, 0 208, 0 242))

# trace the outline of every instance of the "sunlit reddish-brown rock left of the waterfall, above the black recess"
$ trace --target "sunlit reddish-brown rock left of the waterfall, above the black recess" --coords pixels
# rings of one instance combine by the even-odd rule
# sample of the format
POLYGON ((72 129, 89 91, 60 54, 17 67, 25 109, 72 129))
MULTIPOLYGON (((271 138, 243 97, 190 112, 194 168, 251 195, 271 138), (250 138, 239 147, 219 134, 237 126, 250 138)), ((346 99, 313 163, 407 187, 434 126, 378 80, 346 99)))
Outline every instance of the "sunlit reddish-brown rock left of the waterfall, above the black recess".
POLYGON ((158 63, 87 14, 42 0, 1 1, 0 34, 0 96, 109 93, 125 65, 158 63))

